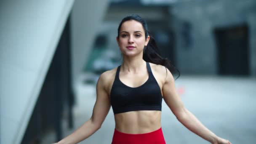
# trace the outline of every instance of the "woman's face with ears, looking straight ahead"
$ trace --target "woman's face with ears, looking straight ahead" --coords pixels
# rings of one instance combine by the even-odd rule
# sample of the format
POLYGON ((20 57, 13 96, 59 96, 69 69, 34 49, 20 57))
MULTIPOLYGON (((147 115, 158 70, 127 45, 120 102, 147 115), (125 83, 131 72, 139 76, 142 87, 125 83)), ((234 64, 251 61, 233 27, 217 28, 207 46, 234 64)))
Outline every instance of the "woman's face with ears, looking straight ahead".
POLYGON ((117 43, 121 52, 126 56, 135 56, 143 52, 144 46, 147 46, 149 36, 145 38, 143 26, 138 21, 125 21, 121 28, 117 43))

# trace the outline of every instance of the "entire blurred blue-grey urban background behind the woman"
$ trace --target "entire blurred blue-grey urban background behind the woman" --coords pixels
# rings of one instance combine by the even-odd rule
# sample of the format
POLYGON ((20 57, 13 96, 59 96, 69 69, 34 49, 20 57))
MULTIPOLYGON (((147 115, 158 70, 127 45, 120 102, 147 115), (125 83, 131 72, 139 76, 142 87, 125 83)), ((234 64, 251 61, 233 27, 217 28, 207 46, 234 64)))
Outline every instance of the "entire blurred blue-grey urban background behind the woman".
MULTIPOLYGON (((255 0, 1 0, 0 143, 51 144, 87 121, 99 75, 121 64, 123 17, 144 18, 181 72, 185 106, 232 144, 256 141, 255 0)), ((112 109, 81 144, 110 144, 112 109)), ((167 144, 207 144, 163 102, 167 144)))

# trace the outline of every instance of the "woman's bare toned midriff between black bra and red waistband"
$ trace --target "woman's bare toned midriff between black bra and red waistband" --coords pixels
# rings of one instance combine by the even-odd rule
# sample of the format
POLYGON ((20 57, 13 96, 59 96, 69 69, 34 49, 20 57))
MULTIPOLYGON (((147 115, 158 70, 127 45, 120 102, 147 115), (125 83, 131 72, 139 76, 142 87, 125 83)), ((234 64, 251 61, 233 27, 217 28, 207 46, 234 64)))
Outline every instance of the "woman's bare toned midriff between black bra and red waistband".
POLYGON ((161 128, 161 111, 142 110, 115 115, 115 129, 122 133, 150 133, 161 128))

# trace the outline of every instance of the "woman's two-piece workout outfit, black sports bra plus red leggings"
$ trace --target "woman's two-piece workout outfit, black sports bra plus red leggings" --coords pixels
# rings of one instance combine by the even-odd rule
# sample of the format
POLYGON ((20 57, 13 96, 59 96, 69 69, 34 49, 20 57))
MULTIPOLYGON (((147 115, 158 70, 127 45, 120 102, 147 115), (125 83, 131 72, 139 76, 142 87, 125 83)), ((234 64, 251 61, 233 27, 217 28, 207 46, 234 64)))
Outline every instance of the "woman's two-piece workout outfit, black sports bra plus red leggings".
MULTIPOLYGON (((114 114, 139 110, 162 110, 161 89, 147 62, 148 80, 141 86, 132 88, 119 79, 120 66, 110 92, 114 114)), ((150 133, 129 134, 115 129, 112 144, 165 144, 162 128, 150 133)))

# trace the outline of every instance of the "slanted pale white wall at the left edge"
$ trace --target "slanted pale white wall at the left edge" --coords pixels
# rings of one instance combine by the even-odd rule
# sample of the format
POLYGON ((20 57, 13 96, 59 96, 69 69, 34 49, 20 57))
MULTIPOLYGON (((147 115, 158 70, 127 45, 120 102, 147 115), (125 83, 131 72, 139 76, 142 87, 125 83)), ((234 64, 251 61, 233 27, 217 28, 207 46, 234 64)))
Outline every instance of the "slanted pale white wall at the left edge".
POLYGON ((1 144, 21 142, 73 3, 1 0, 1 144))

